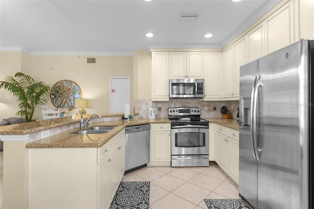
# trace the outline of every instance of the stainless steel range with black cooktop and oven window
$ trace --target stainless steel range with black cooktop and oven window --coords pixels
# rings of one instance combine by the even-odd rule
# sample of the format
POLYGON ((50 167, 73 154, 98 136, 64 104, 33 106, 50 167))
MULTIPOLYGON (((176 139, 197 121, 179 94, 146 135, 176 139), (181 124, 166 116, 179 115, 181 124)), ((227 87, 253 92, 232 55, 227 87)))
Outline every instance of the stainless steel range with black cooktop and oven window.
POLYGON ((209 166, 209 121, 198 107, 168 109, 171 120, 171 166, 209 166))

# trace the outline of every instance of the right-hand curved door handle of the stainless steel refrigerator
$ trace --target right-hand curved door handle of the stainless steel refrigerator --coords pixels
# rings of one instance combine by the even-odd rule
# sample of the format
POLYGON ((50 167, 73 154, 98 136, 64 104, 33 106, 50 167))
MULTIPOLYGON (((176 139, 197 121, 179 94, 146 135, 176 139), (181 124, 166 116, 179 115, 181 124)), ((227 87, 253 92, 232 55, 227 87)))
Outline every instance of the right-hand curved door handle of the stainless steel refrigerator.
POLYGON ((253 112, 253 122, 254 122, 254 126, 253 126, 253 135, 254 135, 254 150, 255 150, 255 156, 257 158, 258 161, 260 161, 260 156, 258 151, 261 151, 258 149, 258 142, 259 142, 259 138, 258 138, 258 115, 257 115, 257 111, 258 111, 258 101, 259 101, 259 87, 262 86, 261 83, 261 75, 259 74, 256 78, 256 84, 255 84, 255 89, 254 89, 254 100, 253 100, 253 108, 254 108, 254 112, 253 112))

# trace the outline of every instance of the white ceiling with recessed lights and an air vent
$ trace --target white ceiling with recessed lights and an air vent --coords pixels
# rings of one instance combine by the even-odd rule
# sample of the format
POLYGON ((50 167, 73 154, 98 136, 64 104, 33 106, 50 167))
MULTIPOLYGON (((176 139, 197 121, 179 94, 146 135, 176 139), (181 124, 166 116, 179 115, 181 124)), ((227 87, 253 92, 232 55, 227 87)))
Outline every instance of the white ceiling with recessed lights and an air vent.
POLYGON ((97 55, 223 48, 279 1, 0 0, 0 50, 97 55), (199 16, 182 21, 181 13, 199 16))

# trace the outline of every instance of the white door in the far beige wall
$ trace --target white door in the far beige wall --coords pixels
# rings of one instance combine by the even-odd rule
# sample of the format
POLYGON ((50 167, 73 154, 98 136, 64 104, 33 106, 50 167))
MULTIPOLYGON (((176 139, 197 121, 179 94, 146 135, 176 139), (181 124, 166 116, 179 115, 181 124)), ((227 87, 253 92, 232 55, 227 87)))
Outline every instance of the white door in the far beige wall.
POLYGON ((130 77, 110 77, 110 90, 110 112, 124 112, 130 104, 130 77))

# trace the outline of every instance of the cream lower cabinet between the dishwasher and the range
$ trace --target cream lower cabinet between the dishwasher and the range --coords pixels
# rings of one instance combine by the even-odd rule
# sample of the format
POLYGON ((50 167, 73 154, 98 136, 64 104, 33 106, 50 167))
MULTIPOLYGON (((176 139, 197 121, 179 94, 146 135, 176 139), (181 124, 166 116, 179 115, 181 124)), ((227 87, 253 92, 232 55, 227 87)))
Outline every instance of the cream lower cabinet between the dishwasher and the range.
POLYGON ((150 166, 170 166, 170 124, 151 124, 150 166))

